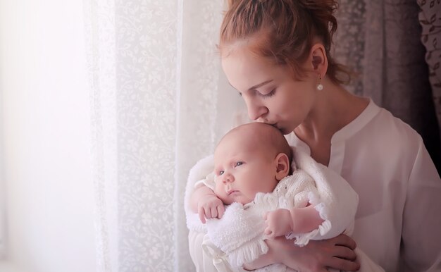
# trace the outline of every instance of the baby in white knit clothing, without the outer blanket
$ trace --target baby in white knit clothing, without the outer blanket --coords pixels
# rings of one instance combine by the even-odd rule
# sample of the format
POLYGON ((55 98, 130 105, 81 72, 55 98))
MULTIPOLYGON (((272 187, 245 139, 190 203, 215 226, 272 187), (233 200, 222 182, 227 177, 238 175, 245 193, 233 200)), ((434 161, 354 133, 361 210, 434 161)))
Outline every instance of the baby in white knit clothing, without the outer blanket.
POLYGON ((214 184, 205 179, 205 186, 197 187, 190 207, 202 223, 225 212, 224 222, 208 221, 207 230, 232 266, 266 266, 264 260, 254 261, 268 251, 263 240, 287 235, 306 245, 324 222, 309 201, 319 198, 316 184, 295 168, 291 147, 271 125, 249 123, 230 130, 215 149, 214 175, 214 184), (230 205, 226 211, 225 205, 230 205))

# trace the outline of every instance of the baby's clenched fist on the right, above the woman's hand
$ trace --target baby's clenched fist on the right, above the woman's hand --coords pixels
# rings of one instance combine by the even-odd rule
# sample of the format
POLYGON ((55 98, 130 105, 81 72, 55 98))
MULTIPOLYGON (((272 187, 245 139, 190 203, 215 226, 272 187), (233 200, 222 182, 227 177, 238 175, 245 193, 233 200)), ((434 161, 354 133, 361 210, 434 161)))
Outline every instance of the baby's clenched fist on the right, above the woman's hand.
POLYGON ((266 223, 265 235, 272 239, 278 236, 286 235, 292 231, 292 218, 290 210, 276 209, 268 211, 263 216, 266 223))

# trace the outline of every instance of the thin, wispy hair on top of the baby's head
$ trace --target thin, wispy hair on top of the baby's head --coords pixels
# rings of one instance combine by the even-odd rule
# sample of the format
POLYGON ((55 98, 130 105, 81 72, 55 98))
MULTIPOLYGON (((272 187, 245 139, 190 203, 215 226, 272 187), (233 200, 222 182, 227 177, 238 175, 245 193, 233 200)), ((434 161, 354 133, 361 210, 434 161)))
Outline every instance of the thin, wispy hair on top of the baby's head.
MULTIPOLYGON (((280 132, 280 130, 278 130, 277 128, 273 127, 273 125, 268 125, 266 123, 260 123, 260 122, 239 125, 233 128, 232 130, 230 130, 229 132, 227 132, 227 134, 225 134, 223 138, 226 137, 227 135, 230 135, 231 133, 247 128, 254 129, 252 141, 255 142, 257 145, 260 145, 262 147, 268 147, 268 145, 271 144, 271 147, 273 147, 275 151, 275 156, 280 153, 284 153, 287 155, 288 161, 290 163, 289 173, 291 173, 292 149, 290 147, 290 144, 288 144, 285 136, 283 136, 282 132, 280 132)), ((223 138, 221 139, 221 141, 223 140, 223 138)))

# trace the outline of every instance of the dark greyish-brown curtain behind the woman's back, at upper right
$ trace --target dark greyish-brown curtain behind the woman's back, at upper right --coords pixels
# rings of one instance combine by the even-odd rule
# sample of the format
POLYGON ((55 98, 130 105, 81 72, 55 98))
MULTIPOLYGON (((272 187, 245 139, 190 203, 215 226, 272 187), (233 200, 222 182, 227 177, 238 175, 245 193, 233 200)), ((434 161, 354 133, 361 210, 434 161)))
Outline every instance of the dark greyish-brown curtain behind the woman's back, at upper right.
MULTIPOLYGON (((440 1, 423 2, 340 1, 334 55, 337 61, 358 74, 348 89, 371 97, 376 104, 411 125, 423 137, 438 173, 441 173, 441 122, 438 121, 441 120, 441 77, 432 80, 436 77, 435 71, 438 75, 441 72, 441 52, 435 53, 436 45, 432 47, 432 54, 426 50, 424 37, 429 32, 426 28, 431 26, 420 23, 421 20, 426 23, 421 19, 424 18, 421 8, 430 7, 430 2, 434 3, 432 8, 439 8, 440 1), (426 61, 426 52, 432 62, 426 61)), ((431 20, 432 23, 441 23, 439 9, 429 14, 428 23, 431 20)), ((432 27, 430 33, 435 32, 432 27)), ((438 26, 437 35, 440 33, 438 26)), ((441 42, 440 38, 438 40, 441 42)), ((433 44, 433 38, 427 43, 433 44)))

